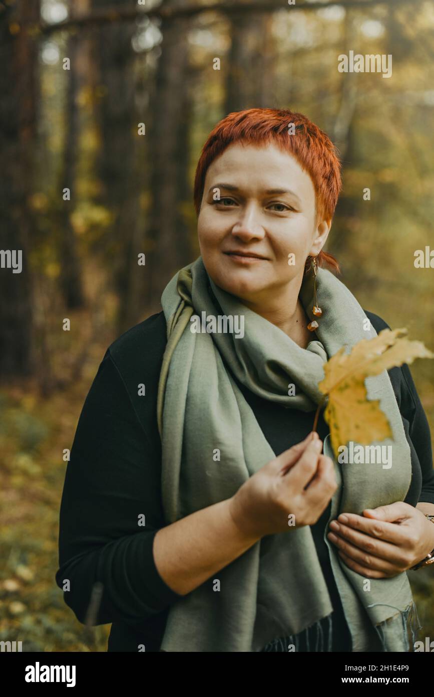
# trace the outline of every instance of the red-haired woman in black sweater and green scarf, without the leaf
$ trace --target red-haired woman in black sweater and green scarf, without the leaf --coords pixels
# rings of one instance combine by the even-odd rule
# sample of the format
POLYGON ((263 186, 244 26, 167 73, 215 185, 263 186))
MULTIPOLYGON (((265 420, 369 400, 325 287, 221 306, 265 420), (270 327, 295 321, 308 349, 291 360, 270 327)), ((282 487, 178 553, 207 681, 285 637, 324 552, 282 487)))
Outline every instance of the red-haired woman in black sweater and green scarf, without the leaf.
POLYGON ((340 189, 303 114, 209 135, 200 256, 106 352, 67 466, 56 582, 109 651, 409 649, 434 473, 408 366, 367 381, 392 466, 339 464, 321 414, 312 433, 324 362, 387 328, 321 268, 340 189))

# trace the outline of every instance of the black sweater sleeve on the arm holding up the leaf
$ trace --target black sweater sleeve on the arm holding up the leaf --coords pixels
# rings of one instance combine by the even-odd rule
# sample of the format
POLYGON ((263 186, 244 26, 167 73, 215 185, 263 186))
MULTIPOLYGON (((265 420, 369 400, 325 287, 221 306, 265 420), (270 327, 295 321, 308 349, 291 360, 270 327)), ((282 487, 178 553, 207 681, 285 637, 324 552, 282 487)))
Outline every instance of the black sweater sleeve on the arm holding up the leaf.
POLYGON ((159 454, 108 350, 81 411, 61 501, 56 583, 80 622, 89 621, 97 582, 91 625, 139 624, 182 597, 154 563, 164 524, 160 475, 159 454))

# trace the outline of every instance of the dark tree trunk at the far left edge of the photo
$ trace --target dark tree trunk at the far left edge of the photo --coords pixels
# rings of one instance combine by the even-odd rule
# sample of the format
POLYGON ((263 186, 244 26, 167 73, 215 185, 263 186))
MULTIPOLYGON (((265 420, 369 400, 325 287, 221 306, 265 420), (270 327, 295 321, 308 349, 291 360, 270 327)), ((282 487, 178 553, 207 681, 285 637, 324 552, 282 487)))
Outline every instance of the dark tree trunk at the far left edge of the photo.
MULTIPOLYGON (((0 249, 22 253, 21 273, 0 268, 0 378, 31 374, 32 304, 29 242, 38 47, 22 20, 38 22, 39 0, 16 1, 0 13, 0 249)), ((17 269, 18 270, 18 269, 17 269)))

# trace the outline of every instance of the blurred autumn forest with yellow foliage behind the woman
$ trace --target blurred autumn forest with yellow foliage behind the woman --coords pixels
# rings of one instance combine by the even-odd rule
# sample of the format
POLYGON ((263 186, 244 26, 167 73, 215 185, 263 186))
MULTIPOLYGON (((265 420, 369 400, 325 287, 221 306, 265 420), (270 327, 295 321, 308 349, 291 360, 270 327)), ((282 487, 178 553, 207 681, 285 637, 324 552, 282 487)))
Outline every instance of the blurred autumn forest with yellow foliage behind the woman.
MULTIPOLYGON (((63 452, 107 346, 199 254, 193 176, 220 118, 290 108, 330 135, 325 249, 362 307, 434 350, 434 271, 415 267, 434 245, 433 58, 431 0, 0 1, 0 247, 23 255, 0 269, 0 640, 106 650, 54 581, 63 452), (339 72, 350 50, 392 54, 392 77, 339 72)), ((411 371, 433 432, 431 361, 411 371)), ((434 636, 434 568, 409 578, 434 636)))

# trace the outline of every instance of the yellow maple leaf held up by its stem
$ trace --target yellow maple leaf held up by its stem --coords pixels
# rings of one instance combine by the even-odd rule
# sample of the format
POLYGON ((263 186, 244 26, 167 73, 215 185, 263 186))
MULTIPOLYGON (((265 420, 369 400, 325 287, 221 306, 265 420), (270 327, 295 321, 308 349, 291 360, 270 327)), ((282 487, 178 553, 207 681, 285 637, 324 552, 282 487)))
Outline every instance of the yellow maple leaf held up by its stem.
POLYGON ((324 379, 318 387, 328 396, 324 419, 330 428, 330 441, 337 457, 339 445, 349 441, 369 445, 392 438, 392 429, 379 399, 367 399, 364 378, 415 358, 434 358, 422 342, 410 341, 407 330, 383 329, 373 339, 362 339, 345 353, 345 346, 325 363, 324 379))

